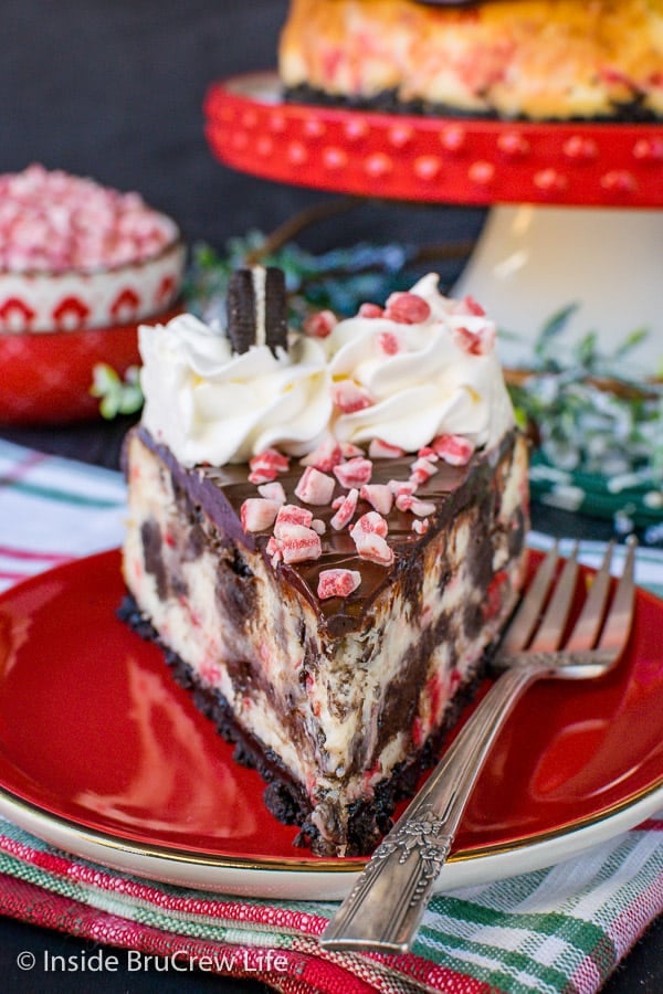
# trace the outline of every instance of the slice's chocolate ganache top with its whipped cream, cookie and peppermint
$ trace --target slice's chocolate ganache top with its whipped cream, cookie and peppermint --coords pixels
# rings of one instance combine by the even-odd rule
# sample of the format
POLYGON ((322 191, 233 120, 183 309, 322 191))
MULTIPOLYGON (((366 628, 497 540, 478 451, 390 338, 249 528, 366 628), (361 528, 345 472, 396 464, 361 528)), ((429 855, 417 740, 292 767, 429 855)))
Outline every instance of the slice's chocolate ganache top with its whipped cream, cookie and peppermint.
POLYGON ((514 413, 494 324, 472 298, 441 295, 434 274, 287 338, 283 313, 283 281, 246 269, 227 329, 189 315, 140 328, 140 433, 339 635, 386 583, 415 588, 422 547, 490 491, 514 413))

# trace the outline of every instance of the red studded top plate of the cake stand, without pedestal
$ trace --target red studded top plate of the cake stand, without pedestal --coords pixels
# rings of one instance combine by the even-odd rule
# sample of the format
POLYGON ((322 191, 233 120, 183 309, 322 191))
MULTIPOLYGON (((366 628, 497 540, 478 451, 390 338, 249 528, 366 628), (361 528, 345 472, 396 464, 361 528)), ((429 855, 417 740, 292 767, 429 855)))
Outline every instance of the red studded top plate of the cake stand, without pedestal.
POLYGON ((213 84, 229 166, 284 183, 428 203, 663 205, 660 124, 520 123, 283 103, 274 73, 213 84))

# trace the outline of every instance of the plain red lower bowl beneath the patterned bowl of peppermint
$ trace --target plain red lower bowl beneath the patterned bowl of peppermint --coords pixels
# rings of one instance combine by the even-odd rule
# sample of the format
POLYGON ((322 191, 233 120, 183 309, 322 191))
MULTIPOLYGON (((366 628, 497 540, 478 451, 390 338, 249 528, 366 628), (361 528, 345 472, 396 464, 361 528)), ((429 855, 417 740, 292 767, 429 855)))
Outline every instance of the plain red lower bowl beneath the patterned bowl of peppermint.
MULTIPOLYGON (((166 324, 181 306, 145 318, 166 324)), ((62 424, 99 416, 90 388, 97 362, 122 378, 140 362, 138 325, 0 335, 0 424, 62 424)))

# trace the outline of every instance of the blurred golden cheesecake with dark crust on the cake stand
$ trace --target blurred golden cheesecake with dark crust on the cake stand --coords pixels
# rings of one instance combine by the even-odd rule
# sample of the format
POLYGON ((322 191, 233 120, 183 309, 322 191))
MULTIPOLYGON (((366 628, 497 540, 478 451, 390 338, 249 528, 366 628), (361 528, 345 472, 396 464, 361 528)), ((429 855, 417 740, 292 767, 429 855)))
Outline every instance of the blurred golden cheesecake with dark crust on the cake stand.
POLYGON ((291 0, 298 99, 530 119, 663 115, 663 0, 291 0))

